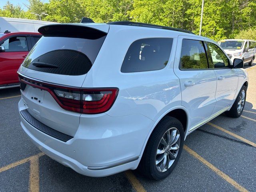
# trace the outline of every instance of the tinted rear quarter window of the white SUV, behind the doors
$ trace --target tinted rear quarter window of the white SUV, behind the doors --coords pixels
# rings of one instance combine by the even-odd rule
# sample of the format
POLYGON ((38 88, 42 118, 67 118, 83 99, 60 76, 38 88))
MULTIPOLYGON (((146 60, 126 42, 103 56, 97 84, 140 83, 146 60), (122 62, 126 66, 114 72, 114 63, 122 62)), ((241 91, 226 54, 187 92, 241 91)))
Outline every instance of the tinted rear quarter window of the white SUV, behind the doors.
POLYGON ((124 57, 121 72, 160 70, 166 66, 172 38, 146 38, 134 41, 124 57))

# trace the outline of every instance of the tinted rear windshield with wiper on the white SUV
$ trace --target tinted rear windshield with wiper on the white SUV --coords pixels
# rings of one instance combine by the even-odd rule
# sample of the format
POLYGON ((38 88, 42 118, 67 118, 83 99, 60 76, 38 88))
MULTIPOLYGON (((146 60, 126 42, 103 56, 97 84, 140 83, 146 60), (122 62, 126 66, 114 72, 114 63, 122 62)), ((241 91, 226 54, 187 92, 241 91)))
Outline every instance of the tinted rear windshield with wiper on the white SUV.
POLYGON ((86 74, 94 63, 106 35, 98 38, 43 36, 22 66, 61 75, 86 74))

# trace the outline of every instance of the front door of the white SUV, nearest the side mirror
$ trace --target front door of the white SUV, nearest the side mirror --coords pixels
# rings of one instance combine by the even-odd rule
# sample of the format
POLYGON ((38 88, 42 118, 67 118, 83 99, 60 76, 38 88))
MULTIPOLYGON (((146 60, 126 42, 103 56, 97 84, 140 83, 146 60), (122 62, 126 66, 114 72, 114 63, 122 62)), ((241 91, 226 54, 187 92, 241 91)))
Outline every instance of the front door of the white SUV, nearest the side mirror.
POLYGON ((216 114, 232 105, 238 84, 238 74, 236 69, 230 68, 229 58, 217 43, 207 42, 207 49, 210 58, 209 66, 217 77, 216 105, 212 112, 216 114))

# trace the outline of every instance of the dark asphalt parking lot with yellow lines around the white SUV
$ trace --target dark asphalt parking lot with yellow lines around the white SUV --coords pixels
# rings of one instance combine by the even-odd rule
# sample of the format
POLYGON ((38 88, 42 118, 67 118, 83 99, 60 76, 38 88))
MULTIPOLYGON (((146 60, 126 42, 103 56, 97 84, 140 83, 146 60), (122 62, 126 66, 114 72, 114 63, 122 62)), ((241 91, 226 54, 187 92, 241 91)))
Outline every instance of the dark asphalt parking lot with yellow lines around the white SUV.
POLYGON ((0 90, 0 192, 256 191, 256 63, 240 118, 220 115, 190 134, 172 174, 148 180, 135 171, 90 178, 52 160, 20 126, 19 88, 0 90))

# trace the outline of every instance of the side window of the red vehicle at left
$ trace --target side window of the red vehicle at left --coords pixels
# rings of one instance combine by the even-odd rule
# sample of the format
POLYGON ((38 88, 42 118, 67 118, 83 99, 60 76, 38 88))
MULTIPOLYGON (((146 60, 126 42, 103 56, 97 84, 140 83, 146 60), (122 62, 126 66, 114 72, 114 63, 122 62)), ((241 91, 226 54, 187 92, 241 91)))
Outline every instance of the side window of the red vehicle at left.
POLYGON ((24 36, 8 38, 0 46, 4 46, 6 52, 28 51, 28 42, 24 36))

